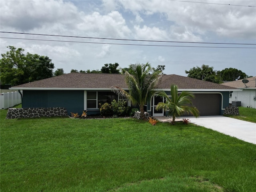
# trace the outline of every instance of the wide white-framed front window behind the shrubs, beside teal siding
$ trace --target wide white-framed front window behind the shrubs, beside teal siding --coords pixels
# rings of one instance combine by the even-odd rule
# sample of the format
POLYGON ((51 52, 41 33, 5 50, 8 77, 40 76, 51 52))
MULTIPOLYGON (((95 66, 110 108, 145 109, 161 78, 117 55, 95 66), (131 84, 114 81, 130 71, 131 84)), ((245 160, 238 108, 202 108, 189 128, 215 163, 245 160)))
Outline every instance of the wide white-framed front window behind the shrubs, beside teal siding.
POLYGON ((99 108, 99 103, 111 103, 112 100, 118 100, 118 95, 112 91, 88 91, 87 92, 87 108, 99 108))

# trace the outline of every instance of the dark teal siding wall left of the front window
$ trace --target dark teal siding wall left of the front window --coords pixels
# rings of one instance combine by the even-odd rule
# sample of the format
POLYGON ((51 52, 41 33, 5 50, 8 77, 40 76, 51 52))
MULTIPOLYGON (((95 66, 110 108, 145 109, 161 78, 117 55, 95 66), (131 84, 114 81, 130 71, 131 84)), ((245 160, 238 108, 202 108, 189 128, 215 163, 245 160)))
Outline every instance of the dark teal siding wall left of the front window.
POLYGON ((22 108, 65 107, 70 112, 84 110, 83 90, 23 90, 22 108))

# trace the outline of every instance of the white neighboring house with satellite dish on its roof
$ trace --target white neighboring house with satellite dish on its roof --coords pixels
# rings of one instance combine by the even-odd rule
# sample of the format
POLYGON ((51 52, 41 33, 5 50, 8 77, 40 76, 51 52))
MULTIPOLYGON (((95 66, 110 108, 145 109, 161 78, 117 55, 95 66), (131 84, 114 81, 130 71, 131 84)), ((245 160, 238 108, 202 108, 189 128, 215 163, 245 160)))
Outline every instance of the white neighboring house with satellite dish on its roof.
POLYGON ((246 78, 248 83, 243 83, 241 80, 231 81, 222 83, 222 85, 242 89, 242 92, 234 91, 230 94, 229 103, 233 104, 237 102, 241 102, 241 106, 243 107, 252 107, 256 108, 256 76, 246 78))

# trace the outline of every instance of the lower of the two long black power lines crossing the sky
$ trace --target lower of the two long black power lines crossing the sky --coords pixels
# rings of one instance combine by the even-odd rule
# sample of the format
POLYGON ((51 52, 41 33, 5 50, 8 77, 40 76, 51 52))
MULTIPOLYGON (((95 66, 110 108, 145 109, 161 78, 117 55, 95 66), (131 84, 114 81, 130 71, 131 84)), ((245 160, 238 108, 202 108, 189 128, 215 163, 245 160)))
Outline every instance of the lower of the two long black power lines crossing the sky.
POLYGON ((64 41, 64 40, 46 40, 46 39, 29 39, 29 38, 10 38, 10 37, 0 37, 0 38, 3 38, 3 39, 37 40, 37 41, 52 41, 52 42, 72 42, 72 43, 91 43, 91 44, 110 44, 110 45, 131 45, 131 46, 195 47, 195 48, 243 48, 243 49, 255 49, 255 48, 256 48, 256 47, 217 47, 217 46, 145 45, 145 44, 102 43, 102 42, 64 41))

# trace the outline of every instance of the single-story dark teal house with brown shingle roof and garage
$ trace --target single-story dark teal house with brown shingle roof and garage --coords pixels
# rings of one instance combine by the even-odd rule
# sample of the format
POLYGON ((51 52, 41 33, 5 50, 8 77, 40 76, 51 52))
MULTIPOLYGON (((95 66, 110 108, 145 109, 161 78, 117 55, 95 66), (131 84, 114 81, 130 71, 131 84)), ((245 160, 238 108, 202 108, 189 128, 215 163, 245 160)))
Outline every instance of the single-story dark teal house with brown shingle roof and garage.
MULTIPOLYGON (((194 78, 163 75, 157 90, 170 94, 170 85, 178 85, 178 90, 195 94, 193 104, 199 109, 201 116, 222 115, 229 105, 229 94, 236 88, 197 80, 194 78)), ((69 73, 44 80, 14 86, 12 90, 23 90, 22 108, 65 107, 70 112, 88 114, 99 113, 99 103, 121 99, 111 91, 112 86, 128 90, 124 74, 69 73)), ((163 116, 163 111, 154 107, 163 99, 153 96, 145 106, 152 116, 163 116)), ((128 101, 130 106, 130 102, 128 101)))

